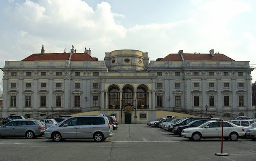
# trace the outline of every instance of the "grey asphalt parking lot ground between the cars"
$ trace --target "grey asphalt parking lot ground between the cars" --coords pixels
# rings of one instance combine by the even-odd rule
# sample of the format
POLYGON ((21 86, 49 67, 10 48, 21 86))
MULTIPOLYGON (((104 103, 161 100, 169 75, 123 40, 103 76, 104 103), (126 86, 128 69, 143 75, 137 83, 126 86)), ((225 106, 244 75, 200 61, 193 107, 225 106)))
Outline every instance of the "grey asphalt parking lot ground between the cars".
POLYGON ((101 143, 93 139, 53 142, 6 137, 0 139, 0 161, 255 161, 256 141, 202 139, 194 142, 146 124, 120 124, 114 136, 101 143))

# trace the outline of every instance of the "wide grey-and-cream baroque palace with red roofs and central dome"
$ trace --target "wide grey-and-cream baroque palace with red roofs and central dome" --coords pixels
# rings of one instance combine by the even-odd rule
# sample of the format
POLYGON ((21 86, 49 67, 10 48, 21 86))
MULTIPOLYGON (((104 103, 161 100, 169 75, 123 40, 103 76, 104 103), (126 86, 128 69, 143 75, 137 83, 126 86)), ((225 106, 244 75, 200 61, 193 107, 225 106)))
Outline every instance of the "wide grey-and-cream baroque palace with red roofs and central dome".
POLYGON ((34 117, 53 112, 99 111, 122 123, 155 119, 156 111, 190 109, 254 116, 249 61, 223 54, 168 54, 150 61, 138 50, 32 54, 6 61, 2 115, 34 117))

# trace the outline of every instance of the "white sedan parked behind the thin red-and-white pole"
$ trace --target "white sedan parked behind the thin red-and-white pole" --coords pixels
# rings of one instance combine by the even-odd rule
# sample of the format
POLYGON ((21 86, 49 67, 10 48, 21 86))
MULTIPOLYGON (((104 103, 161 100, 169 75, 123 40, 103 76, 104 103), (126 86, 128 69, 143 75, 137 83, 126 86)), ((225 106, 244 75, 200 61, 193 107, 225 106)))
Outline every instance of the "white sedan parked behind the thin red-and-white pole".
MULTIPOLYGON (((244 135, 244 127, 223 121, 223 138, 225 140, 236 141, 238 137, 244 135)), ((181 136, 193 141, 199 141, 201 138, 221 138, 222 121, 208 121, 198 127, 183 129, 181 136)))

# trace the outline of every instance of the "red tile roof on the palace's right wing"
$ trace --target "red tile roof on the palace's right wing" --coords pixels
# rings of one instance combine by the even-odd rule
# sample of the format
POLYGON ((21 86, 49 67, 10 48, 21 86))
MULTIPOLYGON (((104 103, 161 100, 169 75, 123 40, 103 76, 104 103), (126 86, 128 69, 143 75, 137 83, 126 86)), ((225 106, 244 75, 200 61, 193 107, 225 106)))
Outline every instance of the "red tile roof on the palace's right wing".
MULTIPOLYGON (((225 56, 224 54, 182 54, 184 60, 213 60, 213 61, 234 61, 233 59, 225 56)), ((169 54, 161 61, 182 61, 180 54, 169 54)))

